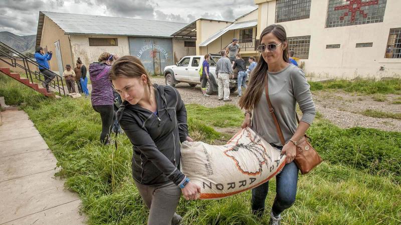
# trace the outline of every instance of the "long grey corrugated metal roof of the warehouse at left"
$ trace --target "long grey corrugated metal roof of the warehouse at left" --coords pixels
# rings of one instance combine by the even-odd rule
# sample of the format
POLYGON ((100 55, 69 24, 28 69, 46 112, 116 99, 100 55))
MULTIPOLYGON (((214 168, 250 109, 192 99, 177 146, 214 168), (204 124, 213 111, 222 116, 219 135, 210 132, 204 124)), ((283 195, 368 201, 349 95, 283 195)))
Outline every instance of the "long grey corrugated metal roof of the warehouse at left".
POLYGON ((171 37, 188 23, 41 11, 68 34, 171 37))

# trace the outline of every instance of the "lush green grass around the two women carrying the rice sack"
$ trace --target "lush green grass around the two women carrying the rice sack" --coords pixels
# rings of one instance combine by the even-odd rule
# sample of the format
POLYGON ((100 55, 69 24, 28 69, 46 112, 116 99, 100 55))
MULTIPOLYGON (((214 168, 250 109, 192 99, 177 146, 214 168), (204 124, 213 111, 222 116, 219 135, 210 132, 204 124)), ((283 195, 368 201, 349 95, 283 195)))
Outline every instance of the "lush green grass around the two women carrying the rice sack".
MULTIPOLYGON (((0 90, 4 86, 0 84, 0 90)), ((28 90, 30 91, 30 90, 28 90)), ((7 99, 7 97, 6 97, 7 99)), ((243 113, 235 106, 187 105, 193 132, 206 142, 222 134, 211 127, 239 126, 243 113), (230 117, 228 117, 230 116, 230 117)), ((100 116, 88 98, 45 99, 28 105, 33 119, 62 167, 66 186, 82 198, 89 223, 143 224, 147 210, 131 178, 132 149, 125 135, 118 149, 98 141, 100 116)), ((376 129, 340 129, 316 121, 309 134, 325 161, 300 175, 295 204, 284 214, 287 224, 398 224, 401 222, 400 133, 376 129), (385 175, 384 175, 385 174, 385 175)), ((275 192, 271 182, 267 207, 275 192)), ((185 201, 177 212, 187 224, 267 224, 250 213, 250 191, 222 200, 185 201)))

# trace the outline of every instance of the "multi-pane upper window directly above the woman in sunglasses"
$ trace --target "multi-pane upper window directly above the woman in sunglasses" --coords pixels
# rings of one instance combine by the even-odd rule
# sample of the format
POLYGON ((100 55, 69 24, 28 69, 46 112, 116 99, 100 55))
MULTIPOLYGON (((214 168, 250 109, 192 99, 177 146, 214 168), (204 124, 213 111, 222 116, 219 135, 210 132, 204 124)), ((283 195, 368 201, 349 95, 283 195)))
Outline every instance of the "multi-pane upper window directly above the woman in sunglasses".
POLYGON ((276 0, 276 22, 309 18, 311 0, 276 0))

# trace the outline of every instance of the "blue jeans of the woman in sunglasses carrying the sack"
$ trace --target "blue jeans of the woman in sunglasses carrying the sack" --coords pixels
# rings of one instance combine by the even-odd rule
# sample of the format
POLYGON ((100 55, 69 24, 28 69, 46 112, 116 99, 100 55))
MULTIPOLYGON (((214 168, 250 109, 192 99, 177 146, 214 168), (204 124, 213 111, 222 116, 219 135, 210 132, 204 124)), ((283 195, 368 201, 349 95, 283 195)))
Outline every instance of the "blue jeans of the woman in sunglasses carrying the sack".
MULTIPOLYGON (((274 144, 272 144, 275 146, 274 144)), ((275 146, 282 149, 282 146, 275 146)), ((286 164, 283 170, 276 175, 276 198, 272 206, 274 215, 279 215, 291 207, 297 195, 298 167, 294 161, 286 164)), ((269 181, 252 189, 252 213, 262 216, 265 210, 265 200, 269 190, 269 181)))

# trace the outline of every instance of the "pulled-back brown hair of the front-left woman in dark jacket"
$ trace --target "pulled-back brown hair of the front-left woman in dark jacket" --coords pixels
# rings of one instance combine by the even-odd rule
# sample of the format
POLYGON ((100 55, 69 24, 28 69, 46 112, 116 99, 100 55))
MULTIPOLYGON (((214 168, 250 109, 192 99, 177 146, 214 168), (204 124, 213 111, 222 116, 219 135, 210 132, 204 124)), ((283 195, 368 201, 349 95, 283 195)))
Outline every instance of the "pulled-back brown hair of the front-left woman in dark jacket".
POLYGON ((152 81, 142 62, 135 56, 124 55, 113 63, 109 78, 111 80, 115 80, 118 77, 140 78, 142 74, 146 75, 147 85, 150 88, 152 81))

